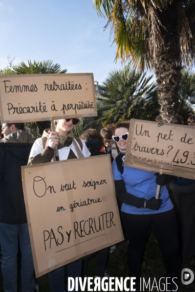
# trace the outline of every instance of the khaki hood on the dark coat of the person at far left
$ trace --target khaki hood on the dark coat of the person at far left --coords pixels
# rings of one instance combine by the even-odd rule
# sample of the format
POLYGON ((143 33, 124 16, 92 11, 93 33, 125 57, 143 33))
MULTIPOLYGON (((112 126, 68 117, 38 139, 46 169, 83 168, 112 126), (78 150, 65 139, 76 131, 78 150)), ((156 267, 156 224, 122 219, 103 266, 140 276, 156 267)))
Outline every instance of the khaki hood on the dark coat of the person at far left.
POLYGON ((27 131, 16 131, 2 138, 0 143, 34 143, 35 139, 27 131))

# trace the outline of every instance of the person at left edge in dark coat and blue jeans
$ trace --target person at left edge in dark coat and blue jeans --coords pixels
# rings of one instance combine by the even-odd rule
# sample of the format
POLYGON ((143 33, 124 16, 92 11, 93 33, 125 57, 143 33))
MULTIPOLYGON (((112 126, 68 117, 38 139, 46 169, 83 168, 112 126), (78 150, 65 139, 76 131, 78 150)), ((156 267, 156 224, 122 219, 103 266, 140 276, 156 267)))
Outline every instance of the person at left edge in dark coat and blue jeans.
POLYGON ((17 292, 18 243, 22 254, 22 291, 39 292, 33 273, 28 223, 22 189, 21 166, 26 165, 34 138, 24 123, 2 124, 0 140, 0 244, 5 292, 17 292))

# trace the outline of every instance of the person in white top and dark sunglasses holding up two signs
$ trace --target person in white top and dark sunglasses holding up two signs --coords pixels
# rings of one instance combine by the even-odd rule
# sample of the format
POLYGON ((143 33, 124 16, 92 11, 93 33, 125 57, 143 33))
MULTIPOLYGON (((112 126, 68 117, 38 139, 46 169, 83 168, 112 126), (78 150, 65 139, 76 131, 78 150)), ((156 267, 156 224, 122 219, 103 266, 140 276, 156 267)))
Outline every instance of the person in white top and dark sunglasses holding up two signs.
MULTIPOLYGON (((28 165, 45 163, 55 160, 54 149, 58 146, 59 159, 73 159, 82 155, 90 156, 86 144, 80 138, 73 136, 71 130, 79 122, 78 118, 57 119, 55 132, 46 129, 42 138, 38 138, 30 152, 28 165)), ((67 265, 68 277, 81 276, 82 261, 67 265)), ((65 266, 48 273, 52 292, 65 292, 65 266)), ((75 291, 75 290, 73 290, 75 291)))

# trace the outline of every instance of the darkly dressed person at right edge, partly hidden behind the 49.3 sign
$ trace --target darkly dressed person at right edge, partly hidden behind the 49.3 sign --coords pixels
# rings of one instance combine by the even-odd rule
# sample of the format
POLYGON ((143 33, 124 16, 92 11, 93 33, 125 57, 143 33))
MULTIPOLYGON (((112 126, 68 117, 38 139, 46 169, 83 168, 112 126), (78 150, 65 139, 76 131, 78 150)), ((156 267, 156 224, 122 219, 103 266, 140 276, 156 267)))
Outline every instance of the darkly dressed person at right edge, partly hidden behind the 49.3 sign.
MULTIPOLYGON (((188 125, 195 127, 195 116, 188 118, 188 125)), ((175 213, 181 212, 180 218, 177 216, 181 229, 181 257, 188 261, 195 256, 195 179, 174 176, 168 187, 176 204, 175 213)))

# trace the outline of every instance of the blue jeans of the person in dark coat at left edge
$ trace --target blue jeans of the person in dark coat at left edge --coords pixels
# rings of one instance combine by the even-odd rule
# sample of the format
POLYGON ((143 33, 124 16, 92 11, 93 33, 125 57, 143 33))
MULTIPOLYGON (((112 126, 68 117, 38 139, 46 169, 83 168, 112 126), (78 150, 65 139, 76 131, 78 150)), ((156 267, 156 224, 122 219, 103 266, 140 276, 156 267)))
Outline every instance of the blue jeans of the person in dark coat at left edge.
POLYGON ((36 284, 33 278, 34 265, 27 223, 16 225, 0 223, 1 270, 4 291, 17 292, 18 239, 22 254, 22 292, 33 292, 36 284))

